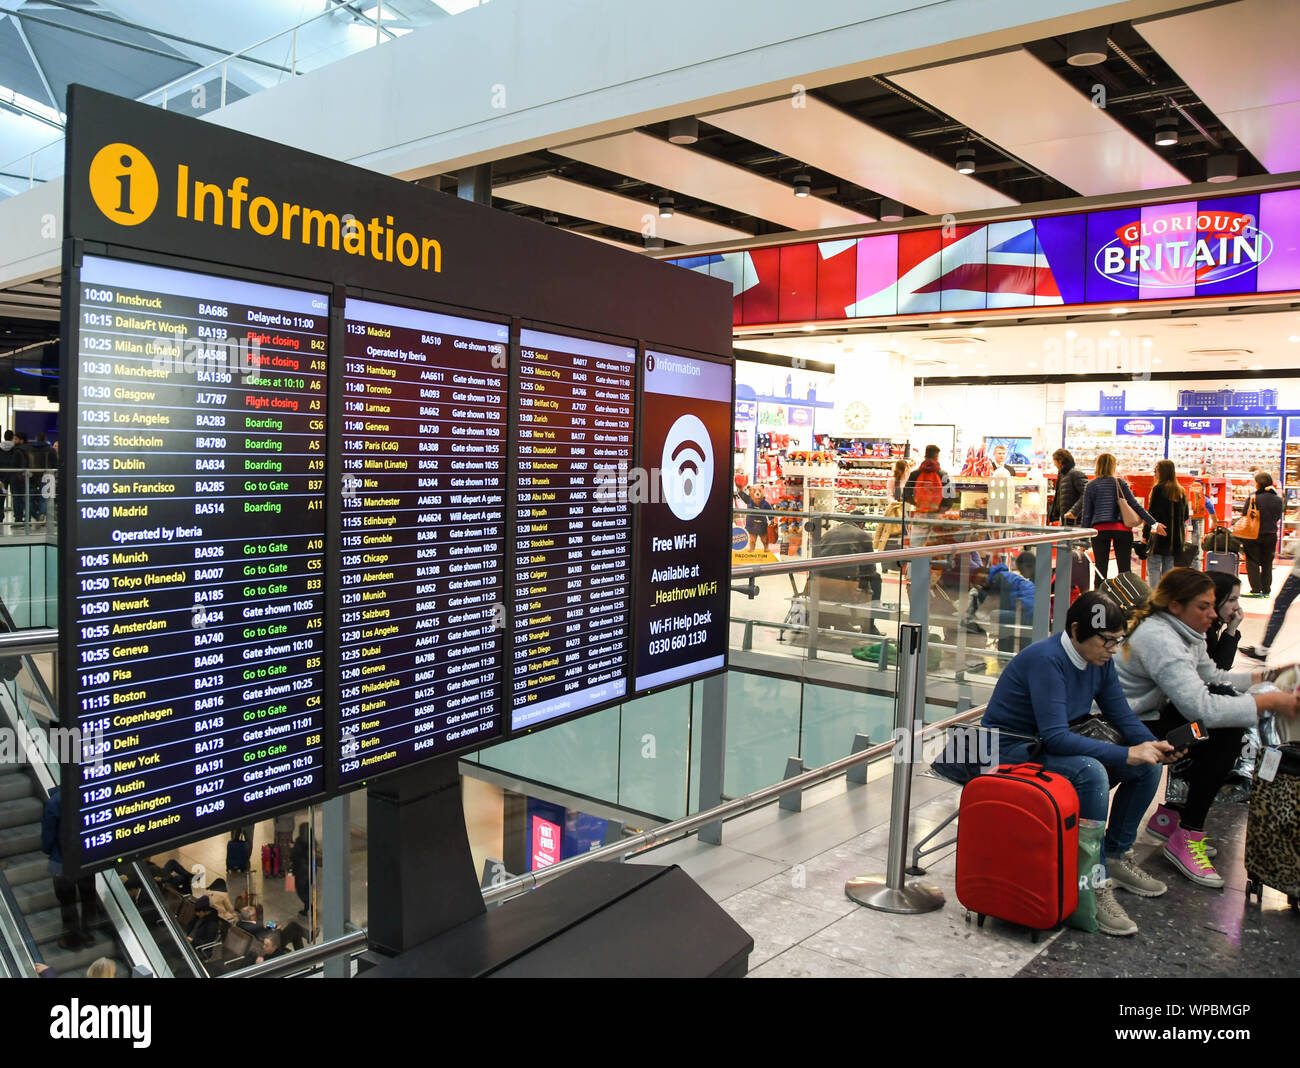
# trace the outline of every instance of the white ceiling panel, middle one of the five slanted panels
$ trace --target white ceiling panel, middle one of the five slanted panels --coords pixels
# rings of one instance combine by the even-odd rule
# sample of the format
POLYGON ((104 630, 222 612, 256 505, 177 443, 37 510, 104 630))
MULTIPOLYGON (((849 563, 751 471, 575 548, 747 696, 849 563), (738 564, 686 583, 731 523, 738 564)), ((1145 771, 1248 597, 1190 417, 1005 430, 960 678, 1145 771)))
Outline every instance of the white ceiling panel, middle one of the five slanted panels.
POLYGON ((958 174, 952 164, 811 96, 716 112, 703 120, 927 214, 1009 208, 1017 203, 958 174))

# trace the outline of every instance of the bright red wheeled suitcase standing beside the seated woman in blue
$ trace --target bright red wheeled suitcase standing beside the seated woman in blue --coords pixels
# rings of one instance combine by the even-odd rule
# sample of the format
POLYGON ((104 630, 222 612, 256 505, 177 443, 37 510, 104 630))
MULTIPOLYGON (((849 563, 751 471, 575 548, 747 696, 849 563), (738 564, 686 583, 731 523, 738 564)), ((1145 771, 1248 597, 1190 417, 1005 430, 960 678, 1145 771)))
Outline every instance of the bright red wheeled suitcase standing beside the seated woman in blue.
POLYGON ((1079 798, 1040 764, 1004 764, 962 789, 957 899, 1037 932, 1079 907, 1079 798))

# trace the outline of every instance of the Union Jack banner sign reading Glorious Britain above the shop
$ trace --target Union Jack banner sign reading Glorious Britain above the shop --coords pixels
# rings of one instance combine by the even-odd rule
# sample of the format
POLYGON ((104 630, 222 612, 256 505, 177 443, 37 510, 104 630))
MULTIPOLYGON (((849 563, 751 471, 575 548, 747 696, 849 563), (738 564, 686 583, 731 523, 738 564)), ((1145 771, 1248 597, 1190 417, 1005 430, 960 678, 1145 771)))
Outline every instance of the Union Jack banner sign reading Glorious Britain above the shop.
POLYGON ((1300 190, 874 234, 671 262, 737 325, 1300 290, 1300 190))

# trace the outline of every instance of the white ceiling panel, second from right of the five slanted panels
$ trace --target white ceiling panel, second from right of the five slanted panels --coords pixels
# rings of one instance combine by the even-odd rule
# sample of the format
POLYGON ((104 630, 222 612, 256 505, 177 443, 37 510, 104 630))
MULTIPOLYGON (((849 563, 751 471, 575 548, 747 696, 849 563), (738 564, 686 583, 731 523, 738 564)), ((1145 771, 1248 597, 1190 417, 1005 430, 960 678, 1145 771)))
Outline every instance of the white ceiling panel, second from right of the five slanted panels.
POLYGON ((1154 148, 1024 49, 889 79, 1084 196, 1187 184, 1154 148))

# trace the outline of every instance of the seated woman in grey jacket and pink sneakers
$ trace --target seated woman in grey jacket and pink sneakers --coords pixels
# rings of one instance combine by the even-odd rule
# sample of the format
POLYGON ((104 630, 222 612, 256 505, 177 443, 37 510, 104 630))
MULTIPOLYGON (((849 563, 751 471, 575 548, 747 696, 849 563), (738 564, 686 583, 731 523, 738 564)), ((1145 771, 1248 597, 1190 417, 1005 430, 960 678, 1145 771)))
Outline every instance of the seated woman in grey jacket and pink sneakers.
POLYGON ((1193 720, 1206 739, 1187 756, 1187 800, 1162 806, 1147 829, 1167 835, 1165 858, 1192 882, 1222 887, 1205 843, 1205 816, 1242 754, 1242 730, 1260 712, 1296 715, 1295 694, 1245 694, 1268 673, 1225 672, 1205 648, 1205 631, 1218 612, 1214 581, 1192 568, 1165 572, 1147 607, 1128 628, 1123 656, 1115 664, 1128 706, 1157 738, 1193 720), (1165 815, 1167 822, 1162 824, 1165 815), (1176 816, 1175 821, 1170 816, 1176 816))

